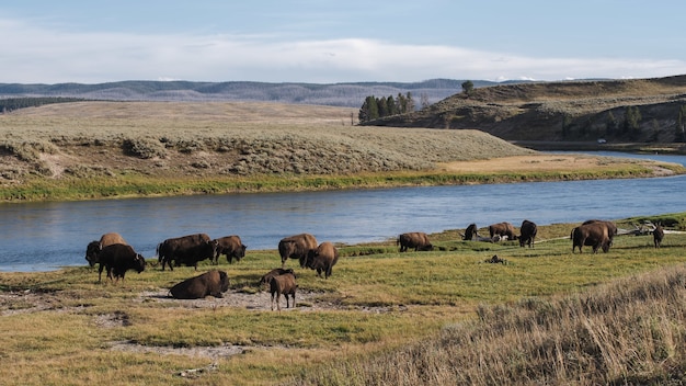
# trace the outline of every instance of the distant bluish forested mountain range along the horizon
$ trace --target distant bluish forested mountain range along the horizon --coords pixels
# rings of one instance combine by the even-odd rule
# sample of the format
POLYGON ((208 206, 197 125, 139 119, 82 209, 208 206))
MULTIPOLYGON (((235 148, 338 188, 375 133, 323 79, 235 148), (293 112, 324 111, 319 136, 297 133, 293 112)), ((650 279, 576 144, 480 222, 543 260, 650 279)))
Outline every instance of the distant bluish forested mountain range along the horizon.
MULTIPOLYGON (((65 96, 107 101, 272 101, 297 104, 359 107, 366 96, 412 93, 435 103, 462 91, 465 80, 432 79, 421 82, 265 83, 250 81, 193 82, 127 80, 96 84, 0 83, 0 98, 65 96)), ((475 88, 515 83, 472 80, 475 88)), ((516 82, 521 83, 521 81, 516 82)))

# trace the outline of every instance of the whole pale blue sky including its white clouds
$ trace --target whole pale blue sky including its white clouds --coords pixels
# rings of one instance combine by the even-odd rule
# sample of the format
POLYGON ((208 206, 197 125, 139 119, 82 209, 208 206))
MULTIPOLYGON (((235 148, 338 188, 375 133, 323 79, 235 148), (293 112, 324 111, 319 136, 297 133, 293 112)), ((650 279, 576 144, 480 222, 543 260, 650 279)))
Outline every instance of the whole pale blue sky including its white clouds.
POLYGON ((0 83, 686 73, 683 0, 16 0, 0 83))

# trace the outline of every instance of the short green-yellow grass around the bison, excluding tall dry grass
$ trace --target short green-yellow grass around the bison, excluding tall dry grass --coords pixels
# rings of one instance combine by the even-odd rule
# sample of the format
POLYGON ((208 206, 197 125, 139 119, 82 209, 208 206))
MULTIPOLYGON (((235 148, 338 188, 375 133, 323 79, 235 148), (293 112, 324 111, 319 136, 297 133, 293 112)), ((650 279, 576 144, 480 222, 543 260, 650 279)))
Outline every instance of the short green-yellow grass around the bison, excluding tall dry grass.
MULTIPOLYGON (((659 217, 679 219, 683 227, 686 214, 659 217)), ((515 242, 461 241, 455 231, 432 235, 443 249, 432 252, 399 253, 391 241, 342 247, 329 280, 296 269, 299 291, 313 293, 319 300, 300 299, 297 310, 281 314, 268 308, 180 308, 173 302, 140 298, 144 291, 168 288, 194 275, 192 268, 173 272, 148 268, 141 274, 129 273, 126 282, 117 285, 98 284, 96 269, 87 266, 0 273, 0 291, 5 295, 0 305, 0 356, 13 364, 0 367, 0 377, 22 385, 112 379, 184 384, 180 372, 217 362, 217 370, 202 373, 201 383, 305 379, 333 357, 335 363, 347 363, 361 355, 377 356, 398 352, 411 342, 425 342, 447 326, 473 320, 480 307, 594 293, 602 283, 682 266, 685 261, 686 236, 673 234, 659 250, 651 247, 649 236, 619 236, 608 253, 572 253, 569 239, 554 239, 568 236, 572 226, 540 227, 540 239, 549 241, 534 249, 515 242), (493 254, 506 264, 484 262, 493 254), (46 309, 32 309, 30 294, 41 295, 46 309), (315 308, 318 302, 329 306, 315 308), (98 322, 103 316, 126 322, 103 327, 98 322), (213 361, 111 350, 118 341, 142 348, 238 344, 245 352, 213 361)), ((279 264, 276 251, 249 250, 240 263, 222 260, 219 268, 229 273, 233 291, 256 296, 250 294, 262 291, 256 285, 260 276, 279 264)), ((209 268, 201 265, 198 271, 209 268)))

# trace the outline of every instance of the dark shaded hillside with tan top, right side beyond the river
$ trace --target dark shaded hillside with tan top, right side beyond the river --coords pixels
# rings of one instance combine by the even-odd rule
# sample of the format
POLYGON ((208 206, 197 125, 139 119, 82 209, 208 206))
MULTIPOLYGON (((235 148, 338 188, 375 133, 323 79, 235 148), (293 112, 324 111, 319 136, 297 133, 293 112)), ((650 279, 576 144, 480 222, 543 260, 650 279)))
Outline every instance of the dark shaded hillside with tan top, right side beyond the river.
POLYGON ((677 126, 686 105, 686 76, 499 84, 461 92, 422 111, 369 125, 477 128, 507 140, 609 143, 686 141, 677 126), (638 128, 624 126, 628 107, 638 128), (610 122, 610 114, 614 122, 610 122))

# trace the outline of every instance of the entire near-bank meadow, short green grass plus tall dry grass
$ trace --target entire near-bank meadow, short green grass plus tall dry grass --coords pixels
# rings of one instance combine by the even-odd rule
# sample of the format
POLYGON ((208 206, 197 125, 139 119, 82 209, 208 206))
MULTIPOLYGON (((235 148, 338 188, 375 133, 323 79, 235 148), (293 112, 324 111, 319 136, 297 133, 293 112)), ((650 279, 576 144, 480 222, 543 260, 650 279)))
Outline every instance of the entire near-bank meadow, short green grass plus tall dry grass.
MULTIPOLYGON (((686 213, 663 219, 686 228, 686 213)), ((619 222, 631 228, 639 219, 619 222)), ((150 266, 124 282, 96 269, 0 273, 7 385, 678 384, 686 381, 686 235, 618 236, 572 253, 575 226, 540 227, 535 248, 431 235, 341 246, 329 280, 298 275, 297 307, 270 309, 258 285, 275 250, 220 259, 224 299, 165 288, 214 266, 150 266), (492 256, 504 264, 488 263, 492 256), (222 303, 226 302, 226 303, 222 303), (230 354, 225 350, 236 350, 230 354)), ((282 304, 283 299, 282 299, 282 304)))

